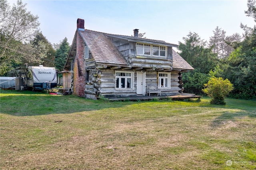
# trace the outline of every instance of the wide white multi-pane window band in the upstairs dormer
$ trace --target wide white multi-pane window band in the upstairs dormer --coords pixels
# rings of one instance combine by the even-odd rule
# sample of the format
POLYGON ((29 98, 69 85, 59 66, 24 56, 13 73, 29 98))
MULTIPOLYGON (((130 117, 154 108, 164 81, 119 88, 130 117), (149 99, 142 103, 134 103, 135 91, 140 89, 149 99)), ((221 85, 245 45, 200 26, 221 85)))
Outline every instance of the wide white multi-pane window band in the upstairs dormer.
POLYGON ((151 44, 144 44, 144 43, 136 44, 137 55, 166 57, 166 49, 167 47, 160 46, 160 45, 151 45, 151 44))

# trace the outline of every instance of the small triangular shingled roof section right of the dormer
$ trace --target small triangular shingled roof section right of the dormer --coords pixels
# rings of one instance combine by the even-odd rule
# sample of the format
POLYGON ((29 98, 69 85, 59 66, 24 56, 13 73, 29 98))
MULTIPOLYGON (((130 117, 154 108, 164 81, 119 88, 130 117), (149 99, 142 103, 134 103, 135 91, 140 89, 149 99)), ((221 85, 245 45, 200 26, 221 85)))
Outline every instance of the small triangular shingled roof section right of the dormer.
POLYGON ((194 70, 186 60, 184 60, 176 51, 172 49, 172 59, 173 59, 173 65, 172 69, 181 69, 181 70, 194 70))

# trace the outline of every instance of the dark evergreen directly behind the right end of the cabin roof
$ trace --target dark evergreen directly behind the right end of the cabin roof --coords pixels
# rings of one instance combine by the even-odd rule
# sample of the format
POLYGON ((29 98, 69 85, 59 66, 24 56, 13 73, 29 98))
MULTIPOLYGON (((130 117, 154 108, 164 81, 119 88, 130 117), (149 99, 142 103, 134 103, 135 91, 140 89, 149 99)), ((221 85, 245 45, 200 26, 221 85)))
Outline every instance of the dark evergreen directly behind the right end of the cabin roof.
POLYGON ((184 88, 188 93, 202 94, 202 88, 209 79, 209 71, 216 66, 218 59, 211 48, 206 48, 206 41, 197 33, 190 32, 179 42, 179 54, 194 70, 183 74, 184 88))

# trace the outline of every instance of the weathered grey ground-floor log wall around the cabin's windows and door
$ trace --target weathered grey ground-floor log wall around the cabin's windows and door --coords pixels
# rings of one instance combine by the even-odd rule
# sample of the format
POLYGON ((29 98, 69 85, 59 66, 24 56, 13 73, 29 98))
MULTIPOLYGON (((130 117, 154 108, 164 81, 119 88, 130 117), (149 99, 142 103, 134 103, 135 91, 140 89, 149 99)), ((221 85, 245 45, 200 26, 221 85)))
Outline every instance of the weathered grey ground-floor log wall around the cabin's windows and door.
MULTIPOLYGON (((119 69, 123 71, 122 69, 119 69)), ((91 80, 85 85, 85 96, 88 98, 95 99, 99 96, 108 97, 129 97, 137 95, 137 72, 136 70, 125 70, 129 72, 134 72, 134 89, 132 90, 116 90, 115 84, 115 70, 110 68, 98 69, 94 68, 92 70, 91 80), (87 95, 88 94, 88 95, 87 95), (90 94, 90 95, 89 95, 90 94), (94 96, 93 96, 94 95, 94 96), (93 97, 92 97, 93 96, 93 97)), ((171 72, 171 88, 162 89, 163 96, 170 96, 174 94, 180 94, 181 90, 179 83, 178 72, 171 72)), ((158 72, 149 71, 146 72, 146 86, 158 86, 158 72)))

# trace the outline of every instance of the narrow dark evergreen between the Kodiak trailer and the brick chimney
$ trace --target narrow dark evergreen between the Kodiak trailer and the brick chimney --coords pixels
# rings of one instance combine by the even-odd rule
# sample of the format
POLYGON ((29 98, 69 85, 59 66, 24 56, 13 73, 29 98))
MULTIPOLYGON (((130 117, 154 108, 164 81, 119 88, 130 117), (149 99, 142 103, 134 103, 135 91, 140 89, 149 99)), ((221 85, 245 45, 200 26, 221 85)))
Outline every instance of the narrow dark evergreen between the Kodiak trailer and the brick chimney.
POLYGON ((70 50, 70 46, 68 43, 68 39, 65 37, 61 41, 60 48, 56 50, 56 55, 55 55, 55 68, 58 69, 59 71, 62 71, 64 68, 69 50, 70 50))

